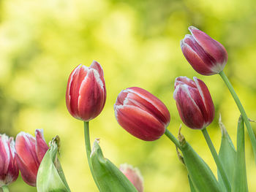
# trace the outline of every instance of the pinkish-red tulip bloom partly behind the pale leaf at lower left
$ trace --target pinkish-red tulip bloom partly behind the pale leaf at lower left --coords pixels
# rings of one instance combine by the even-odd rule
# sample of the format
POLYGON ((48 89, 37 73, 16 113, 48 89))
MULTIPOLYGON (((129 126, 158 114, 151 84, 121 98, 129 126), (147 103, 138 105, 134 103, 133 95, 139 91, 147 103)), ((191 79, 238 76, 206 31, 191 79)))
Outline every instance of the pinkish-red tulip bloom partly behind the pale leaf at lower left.
POLYGON ((35 138, 31 134, 20 132, 16 137, 15 148, 21 177, 27 184, 36 186, 37 171, 48 150, 42 130, 37 129, 35 131, 35 138))

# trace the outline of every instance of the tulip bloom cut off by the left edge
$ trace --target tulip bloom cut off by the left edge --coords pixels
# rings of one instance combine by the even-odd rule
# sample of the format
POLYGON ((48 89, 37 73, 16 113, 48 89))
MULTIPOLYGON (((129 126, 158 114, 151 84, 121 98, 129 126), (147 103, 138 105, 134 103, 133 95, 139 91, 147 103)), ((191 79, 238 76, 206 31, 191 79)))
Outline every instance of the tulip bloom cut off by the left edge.
POLYGON ((19 169, 15 161, 15 142, 12 137, 0 134, 0 187, 17 180, 19 169))

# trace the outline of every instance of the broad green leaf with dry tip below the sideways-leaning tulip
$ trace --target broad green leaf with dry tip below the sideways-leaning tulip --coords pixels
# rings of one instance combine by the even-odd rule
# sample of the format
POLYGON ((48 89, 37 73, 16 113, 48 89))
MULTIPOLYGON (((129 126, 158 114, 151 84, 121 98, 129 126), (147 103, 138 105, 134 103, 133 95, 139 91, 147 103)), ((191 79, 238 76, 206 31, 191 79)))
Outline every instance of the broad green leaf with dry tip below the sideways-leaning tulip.
POLYGON ((203 161, 202 158, 193 150, 193 148, 186 142, 185 138, 179 132, 178 139, 181 144, 181 152, 183 154, 184 162, 189 172, 189 178, 195 191, 199 192, 217 192, 221 191, 220 185, 214 176, 211 169, 203 161))

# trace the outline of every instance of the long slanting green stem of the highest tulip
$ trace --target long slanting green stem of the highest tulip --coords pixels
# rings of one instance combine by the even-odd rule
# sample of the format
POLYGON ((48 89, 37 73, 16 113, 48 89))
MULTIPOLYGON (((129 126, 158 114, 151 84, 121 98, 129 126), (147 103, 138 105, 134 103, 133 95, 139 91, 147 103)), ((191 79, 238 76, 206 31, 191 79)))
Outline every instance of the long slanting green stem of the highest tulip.
POLYGON ((246 125, 248 134, 249 134, 249 139, 251 140, 252 143, 252 150, 253 150, 253 154, 255 155, 255 161, 256 161, 256 139, 255 139, 255 134, 252 130, 252 126, 249 123, 249 119, 246 115, 246 112, 244 111, 244 107, 241 104, 241 101, 239 100, 236 91, 234 90, 233 86, 231 85, 230 81, 228 80, 226 74, 222 71, 219 72, 220 77, 222 77, 222 80, 224 80, 225 84, 227 85, 227 88, 229 89, 231 95, 233 96, 233 99, 236 101, 236 105, 239 109, 239 111, 241 112, 241 115, 244 119, 244 123, 246 125))

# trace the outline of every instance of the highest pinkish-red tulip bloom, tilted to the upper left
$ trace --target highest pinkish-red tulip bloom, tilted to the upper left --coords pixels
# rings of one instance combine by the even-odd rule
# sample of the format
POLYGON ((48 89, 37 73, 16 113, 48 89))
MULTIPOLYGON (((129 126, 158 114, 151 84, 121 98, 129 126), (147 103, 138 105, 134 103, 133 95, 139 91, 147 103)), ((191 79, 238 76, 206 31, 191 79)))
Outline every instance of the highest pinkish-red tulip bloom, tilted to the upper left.
POLYGON ((181 40, 181 50, 196 72, 203 75, 222 72, 227 63, 227 50, 208 34, 190 26, 189 31, 181 40))

